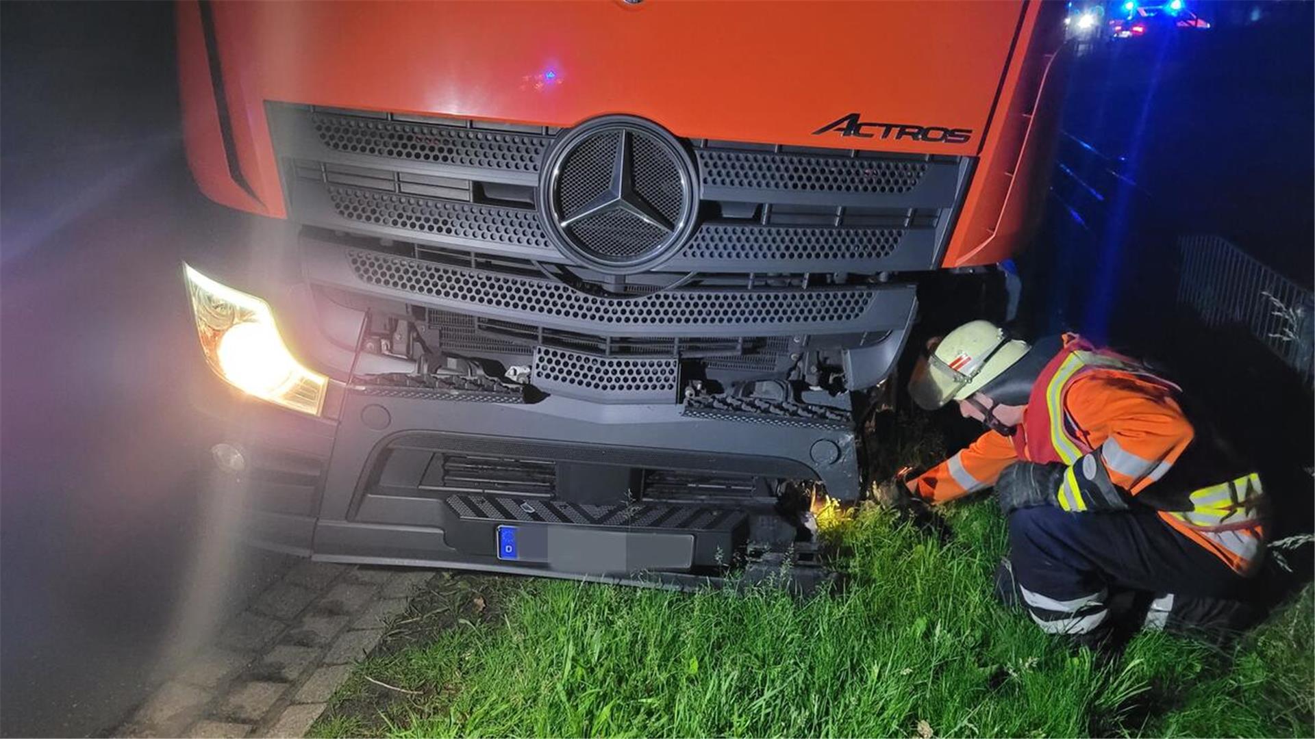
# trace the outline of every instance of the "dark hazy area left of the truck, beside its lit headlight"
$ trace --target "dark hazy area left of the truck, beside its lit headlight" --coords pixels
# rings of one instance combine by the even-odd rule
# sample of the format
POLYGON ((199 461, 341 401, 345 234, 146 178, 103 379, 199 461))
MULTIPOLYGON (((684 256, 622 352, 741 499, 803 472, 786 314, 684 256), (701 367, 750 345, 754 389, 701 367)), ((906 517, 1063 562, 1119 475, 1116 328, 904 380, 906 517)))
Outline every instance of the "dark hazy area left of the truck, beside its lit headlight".
POLYGON ((180 254, 243 218, 187 171, 171 4, 0 3, 0 732, 101 734, 185 597, 237 610, 283 565, 191 575, 216 434, 180 254))

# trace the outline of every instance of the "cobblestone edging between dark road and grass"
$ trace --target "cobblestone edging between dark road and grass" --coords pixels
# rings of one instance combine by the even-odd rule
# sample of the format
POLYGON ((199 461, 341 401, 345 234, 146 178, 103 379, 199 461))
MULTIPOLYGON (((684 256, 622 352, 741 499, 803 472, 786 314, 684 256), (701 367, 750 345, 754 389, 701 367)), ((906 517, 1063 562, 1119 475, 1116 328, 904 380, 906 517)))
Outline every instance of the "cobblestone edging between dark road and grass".
POLYGON ((433 571, 302 561, 160 685, 120 736, 302 736, 433 571))

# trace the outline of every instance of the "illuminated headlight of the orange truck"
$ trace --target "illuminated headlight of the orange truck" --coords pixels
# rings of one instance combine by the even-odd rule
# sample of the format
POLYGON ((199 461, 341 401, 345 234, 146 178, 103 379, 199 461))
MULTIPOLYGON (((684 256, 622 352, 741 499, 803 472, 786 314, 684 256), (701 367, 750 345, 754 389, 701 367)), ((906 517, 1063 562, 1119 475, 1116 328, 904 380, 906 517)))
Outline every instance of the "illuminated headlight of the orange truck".
POLYGON ((329 379, 297 362, 270 304, 183 266, 205 360, 230 385, 260 400, 318 414, 329 379))

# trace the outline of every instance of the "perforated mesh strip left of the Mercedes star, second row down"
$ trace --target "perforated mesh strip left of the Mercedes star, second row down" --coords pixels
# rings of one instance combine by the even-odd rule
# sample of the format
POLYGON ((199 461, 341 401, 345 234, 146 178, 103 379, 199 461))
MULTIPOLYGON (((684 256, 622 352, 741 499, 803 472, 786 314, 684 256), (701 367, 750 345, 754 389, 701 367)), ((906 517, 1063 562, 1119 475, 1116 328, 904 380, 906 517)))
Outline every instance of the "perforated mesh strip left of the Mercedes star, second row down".
POLYGON ((329 199, 343 218, 425 231, 439 237, 550 249, 533 210, 444 203, 426 197, 330 187, 329 199))

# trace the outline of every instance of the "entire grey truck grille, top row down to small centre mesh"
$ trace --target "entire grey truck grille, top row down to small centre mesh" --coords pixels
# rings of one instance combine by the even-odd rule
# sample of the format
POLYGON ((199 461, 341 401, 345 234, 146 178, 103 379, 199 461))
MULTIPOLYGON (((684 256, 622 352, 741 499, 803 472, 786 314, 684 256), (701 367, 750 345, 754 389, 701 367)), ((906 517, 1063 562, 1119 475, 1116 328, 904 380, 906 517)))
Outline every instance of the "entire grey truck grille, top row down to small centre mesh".
POLYGON ((281 103, 268 120, 289 214, 312 226, 313 283, 396 301, 439 352, 530 364, 537 387, 590 400, 677 402, 684 379, 776 377, 810 350, 903 331, 915 289, 899 275, 938 266, 973 164, 673 139, 647 122, 596 139, 633 149, 592 151, 537 125, 281 103), (540 192, 554 153, 597 170, 559 183, 560 203, 540 192), (598 206, 615 162, 647 220, 598 206), (646 260, 659 235, 642 227, 676 220, 646 260))

